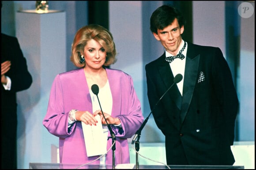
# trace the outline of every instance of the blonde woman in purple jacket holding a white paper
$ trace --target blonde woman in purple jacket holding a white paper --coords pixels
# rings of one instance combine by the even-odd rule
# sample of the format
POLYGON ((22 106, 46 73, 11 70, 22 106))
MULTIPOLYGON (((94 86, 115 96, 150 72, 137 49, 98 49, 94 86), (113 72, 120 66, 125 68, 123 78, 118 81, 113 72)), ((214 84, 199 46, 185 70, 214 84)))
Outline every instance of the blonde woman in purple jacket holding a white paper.
MULTIPOLYGON (((83 135, 84 125, 93 128, 98 123, 98 115, 104 130, 105 150, 111 148, 109 129, 97 96, 91 90, 94 84, 99 87, 102 111, 116 136, 115 163, 130 163, 128 138, 142 125, 143 115, 132 77, 123 71, 107 68, 116 62, 112 34, 100 25, 82 27, 72 43, 71 61, 79 69, 56 76, 43 119, 46 129, 59 137, 60 163, 90 163, 104 155, 88 156, 85 140, 93 139, 83 135)), ((101 148, 98 145, 93 147, 96 148, 90 150, 101 148)), ((108 152, 105 159, 98 159, 92 164, 112 164, 112 156, 112 152, 108 152)))

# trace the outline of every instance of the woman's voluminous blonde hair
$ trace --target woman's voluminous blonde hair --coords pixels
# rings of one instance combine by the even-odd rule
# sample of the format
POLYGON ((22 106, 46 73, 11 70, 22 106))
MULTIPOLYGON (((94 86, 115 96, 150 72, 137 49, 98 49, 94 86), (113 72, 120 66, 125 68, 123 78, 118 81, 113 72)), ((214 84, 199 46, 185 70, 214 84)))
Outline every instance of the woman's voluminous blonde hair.
POLYGON ((87 45, 89 40, 96 40, 102 45, 102 47, 107 52, 105 66, 114 64, 117 59, 117 51, 115 43, 113 41, 113 36, 108 29, 105 29, 101 25, 90 24, 80 28, 76 34, 74 41, 72 43, 72 55, 70 60, 76 67, 84 67, 85 62, 81 62, 81 54, 83 54, 84 47, 87 45))

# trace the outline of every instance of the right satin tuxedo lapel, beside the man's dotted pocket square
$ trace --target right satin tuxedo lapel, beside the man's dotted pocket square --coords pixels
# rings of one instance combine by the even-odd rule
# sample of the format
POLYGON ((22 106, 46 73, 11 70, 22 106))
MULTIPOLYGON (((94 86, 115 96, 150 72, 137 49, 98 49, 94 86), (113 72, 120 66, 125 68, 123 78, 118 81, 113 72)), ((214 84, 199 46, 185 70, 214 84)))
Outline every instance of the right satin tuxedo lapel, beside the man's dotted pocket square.
POLYGON ((184 83, 183 83, 183 95, 182 95, 181 124, 183 123, 186 117, 186 114, 188 112, 188 107, 190 105, 190 102, 193 96, 194 88, 196 85, 199 59, 200 59, 200 55, 192 59, 191 58, 186 59, 186 67, 185 67, 184 83))

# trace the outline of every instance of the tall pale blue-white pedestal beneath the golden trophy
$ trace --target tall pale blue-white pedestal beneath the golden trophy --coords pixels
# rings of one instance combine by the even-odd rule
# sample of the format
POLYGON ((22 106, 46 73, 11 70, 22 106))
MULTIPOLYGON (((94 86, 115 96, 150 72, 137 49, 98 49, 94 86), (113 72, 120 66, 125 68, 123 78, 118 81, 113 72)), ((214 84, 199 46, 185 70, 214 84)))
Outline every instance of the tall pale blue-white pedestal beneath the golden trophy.
POLYGON ((51 144, 58 137, 42 125, 54 77, 66 70, 66 14, 53 11, 37 14, 16 13, 16 36, 33 83, 28 90, 17 93, 18 167, 28 168, 31 162, 51 162, 51 144))

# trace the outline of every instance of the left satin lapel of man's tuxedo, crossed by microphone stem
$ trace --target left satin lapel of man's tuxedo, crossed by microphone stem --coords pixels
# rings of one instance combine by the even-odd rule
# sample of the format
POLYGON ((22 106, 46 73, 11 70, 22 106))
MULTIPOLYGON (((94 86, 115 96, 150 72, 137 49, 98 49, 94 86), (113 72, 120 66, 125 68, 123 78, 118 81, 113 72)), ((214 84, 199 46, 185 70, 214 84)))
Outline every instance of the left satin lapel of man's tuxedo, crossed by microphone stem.
MULTIPOLYGON (((173 79, 174 79, 173 72, 169 67, 169 63, 167 65, 159 67, 159 72, 163 82, 165 83, 166 90, 168 90, 169 87, 173 85, 173 79)), ((171 97, 171 99, 175 102, 177 107, 181 110, 182 98, 181 98, 181 93, 177 87, 177 84, 174 84, 173 87, 171 87, 167 93, 170 94, 168 96, 171 97)))

